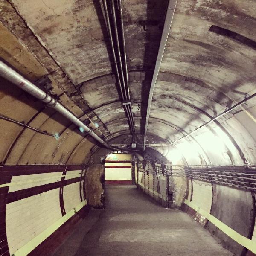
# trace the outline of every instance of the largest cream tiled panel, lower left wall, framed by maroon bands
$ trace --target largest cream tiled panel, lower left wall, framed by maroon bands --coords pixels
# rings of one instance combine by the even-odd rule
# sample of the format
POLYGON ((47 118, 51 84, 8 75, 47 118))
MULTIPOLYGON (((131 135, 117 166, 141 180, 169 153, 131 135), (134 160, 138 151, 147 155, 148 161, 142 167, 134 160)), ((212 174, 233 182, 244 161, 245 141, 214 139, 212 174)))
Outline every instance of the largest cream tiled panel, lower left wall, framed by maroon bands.
POLYGON ((59 189, 6 205, 6 234, 10 254, 61 218, 59 189))

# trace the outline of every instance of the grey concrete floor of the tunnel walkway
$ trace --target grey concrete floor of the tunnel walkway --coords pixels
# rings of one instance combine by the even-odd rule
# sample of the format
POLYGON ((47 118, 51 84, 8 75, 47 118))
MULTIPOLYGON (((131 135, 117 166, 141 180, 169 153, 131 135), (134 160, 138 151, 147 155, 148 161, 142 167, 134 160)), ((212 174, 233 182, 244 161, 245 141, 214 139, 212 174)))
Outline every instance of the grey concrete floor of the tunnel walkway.
POLYGON ((189 215, 155 204, 135 186, 107 186, 106 210, 88 217, 55 256, 232 255, 189 215))

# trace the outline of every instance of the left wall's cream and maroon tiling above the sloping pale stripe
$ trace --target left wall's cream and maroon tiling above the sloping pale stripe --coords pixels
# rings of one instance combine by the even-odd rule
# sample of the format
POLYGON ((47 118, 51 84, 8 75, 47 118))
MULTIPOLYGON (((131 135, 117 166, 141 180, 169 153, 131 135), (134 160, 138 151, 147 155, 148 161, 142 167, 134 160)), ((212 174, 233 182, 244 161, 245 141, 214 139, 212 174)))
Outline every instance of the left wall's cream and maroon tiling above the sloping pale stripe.
MULTIPOLYGON (((12 255, 26 248, 32 239, 41 236, 63 215, 86 204, 80 189, 83 169, 84 166, 1 167, 0 255, 12 255)), ((40 241, 44 242, 48 236, 40 241)))

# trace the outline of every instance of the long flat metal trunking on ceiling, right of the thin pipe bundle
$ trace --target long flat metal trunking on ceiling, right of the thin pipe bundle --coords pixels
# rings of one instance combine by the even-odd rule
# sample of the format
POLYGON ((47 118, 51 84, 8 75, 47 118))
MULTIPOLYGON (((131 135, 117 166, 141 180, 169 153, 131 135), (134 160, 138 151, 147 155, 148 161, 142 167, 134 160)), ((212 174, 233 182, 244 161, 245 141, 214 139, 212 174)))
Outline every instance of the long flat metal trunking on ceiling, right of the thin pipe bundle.
POLYGON ((174 12, 175 12, 176 4, 177 4, 177 0, 169 0, 168 9, 166 12, 166 18, 165 18, 165 22, 164 22, 164 26, 163 26, 163 33, 162 33, 161 41, 160 41, 160 47, 159 47, 158 54, 157 54, 157 61, 156 61, 156 65, 154 68, 154 74, 153 74, 153 78, 152 78, 151 86, 150 86, 150 90, 149 90, 148 108, 147 108, 147 114, 146 114, 146 120, 145 120, 145 130, 144 130, 144 143, 143 143, 144 150, 145 150, 145 142, 146 142, 145 137, 146 137, 147 129, 148 129, 148 119, 149 119, 149 113, 150 113, 150 108, 151 108, 151 103, 152 103, 154 87, 155 87, 155 84, 157 81, 157 76, 158 76, 158 73, 160 70, 160 65, 161 65, 162 58, 163 58, 163 52, 166 47, 166 42, 167 42, 167 38, 168 38, 169 31, 171 28, 172 18, 173 18, 174 12))

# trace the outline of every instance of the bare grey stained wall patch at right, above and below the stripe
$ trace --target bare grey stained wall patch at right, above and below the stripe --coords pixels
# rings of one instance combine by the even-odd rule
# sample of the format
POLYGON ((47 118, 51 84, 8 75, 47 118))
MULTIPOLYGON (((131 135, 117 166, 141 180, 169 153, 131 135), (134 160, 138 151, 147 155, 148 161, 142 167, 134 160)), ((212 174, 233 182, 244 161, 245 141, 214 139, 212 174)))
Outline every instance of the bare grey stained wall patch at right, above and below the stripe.
MULTIPOLYGON (((220 219, 227 226, 245 237, 252 235, 255 223, 255 201, 250 191, 238 190, 226 186, 214 186, 213 204, 211 214, 220 219), (254 217, 254 218, 253 218, 254 217)), ((240 255, 244 248, 230 239, 221 230, 216 228, 210 222, 208 223, 209 231, 218 237, 219 241, 224 243, 228 249, 240 255)))

